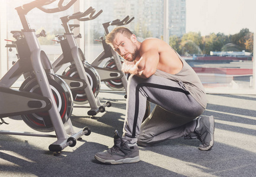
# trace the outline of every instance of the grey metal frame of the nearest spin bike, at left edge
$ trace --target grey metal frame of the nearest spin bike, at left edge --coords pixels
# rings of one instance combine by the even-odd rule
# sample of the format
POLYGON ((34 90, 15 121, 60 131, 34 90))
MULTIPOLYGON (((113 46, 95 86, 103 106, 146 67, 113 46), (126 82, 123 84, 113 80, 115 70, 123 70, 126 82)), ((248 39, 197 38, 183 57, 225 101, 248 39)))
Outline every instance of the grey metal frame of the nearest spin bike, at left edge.
MULTIPOLYGON (((38 107, 31 110, 31 107, 23 106, 23 104, 28 104, 23 99, 21 100, 17 98, 14 99, 14 97, 20 97, 24 94, 24 96, 27 96, 26 98, 30 98, 31 100, 33 100, 34 98, 35 100, 37 98, 36 96, 38 96, 37 94, 9 89, 9 87, 11 87, 12 84, 14 84, 15 81, 17 81, 22 74, 28 73, 30 71, 34 71, 35 77, 37 78, 38 85, 43 95, 41 97, 47 100, 45 101, 45 103, 43 101, 41 102, 44 105, 43 109, 48 110, 56 136, 42 135, 42 134, 30 133, 30 132, 9 132, 5 130, 0 130, 0 134, 57 137, 56 142, 52 143, 49 146, 49 150, 53 152, 60 152, 67 146, 70 146, 70 143, 72 143, 69 141, 70 137, 74 139, 78 139, 80 136, 85 135, 86 131, 81 130, 80 132, 75 133, 70 119, 67 120, 65 124, 66 127, 64 127, 64 124, 61 121, 59 110, 57 109, 54 96, 50 89, 50 84, 48 83, 48 79, 45 72, 45 70, 51 71, 52 68, 50 68, 49 61, 43 60, 45 57, 45 53, 40 48, 40 44, 37 40, 37 35, 35 34, 35 30, 30 29, 28 21, 25 17, 28 11, 36 7, 36 6, 33 6, 34 2, 31 2, 31 4, 26 4, 26 6, 19 6, 18 8, 15 8, 21 19, 22 27, 24 28, 24 30, 22 30, 22 33, 24 35, 24 38, 26 41, 25 44, 27 44, 29 53, 28 53, 28 58, 26 58, 26 60, 19 59, 11 67, 11 69, 8 70, 5 76, 2 77, 2 79, 0 80, 0 94, 1 96, 7 99, 7 100, 2 100, 2 99, 0 100, 0 107, 1 107, 0 117, 15 116, 15 115, 20 115, 21 113, 22 114, 32 113, 32 112, 35 113, 41 110, 41 109, 38 109, 38 107), (33 6, 33 8, 31 8, 31 6, 33 6), (12 99, 14 99, 15 101, 12 101, 12 99), (9 108, 11 104, 14 104, 14 106, 17 108, 22 107, 22 109, 27 109, 27 110, 22 110, 21 112, 20 111, 14 112, 14 110, 10 110, 9 108)), ((46 3, 45 1, 40 1, 40 2, 43 4, 46 3)), ((40 2, 37 1, 38 4, 40 4, 40 2)))

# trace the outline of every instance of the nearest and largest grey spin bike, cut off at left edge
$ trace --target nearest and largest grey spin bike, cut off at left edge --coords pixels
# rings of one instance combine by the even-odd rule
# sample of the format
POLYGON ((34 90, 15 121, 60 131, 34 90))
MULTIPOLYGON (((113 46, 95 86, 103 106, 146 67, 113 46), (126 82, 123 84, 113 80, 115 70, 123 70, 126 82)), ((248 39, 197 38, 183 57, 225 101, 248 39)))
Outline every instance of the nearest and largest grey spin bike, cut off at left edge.
POLYGON ((76 140, 82 135, 90 135, 90 129, 84 127, 79 132, 74 132, 69 119, 73 109, 70 89, 60 77, 54 74, 46 53, 40 48, 37 37, 45 36, 45 32, 35 34, 35 30, 30 28, 25 16, 34 8, 46 13, 64 11, 76 2, 71 0, 63 6, 64 0, 60 0, 57 8, 44 7, 54 1, 56 0, 36 0, 15 8, 24 29, 12 31, 17 40, 13 44, 18 51, 18 61, 0 80, 0 117, 3 120, 2 117, 21 115, 22 120, 32 129, 38 132, 55 131, 56 135, 5 130, 0 130, 0 134, 57 137, 56 142, 52 143, 48 149, 52 152, 60 152, 67 146, 75 146, 76 140), (22 74, 25 81, 20 89, 11 89, 12 84, 22 74))

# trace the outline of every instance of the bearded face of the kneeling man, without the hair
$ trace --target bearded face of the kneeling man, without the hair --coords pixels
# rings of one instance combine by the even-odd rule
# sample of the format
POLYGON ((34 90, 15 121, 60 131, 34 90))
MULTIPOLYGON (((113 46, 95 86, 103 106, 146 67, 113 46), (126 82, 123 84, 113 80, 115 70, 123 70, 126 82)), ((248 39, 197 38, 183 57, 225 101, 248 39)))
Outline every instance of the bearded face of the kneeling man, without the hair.
POLYGON ((125 60, 134 61, 138 54, 137 45, 134 44, 135 35, 127 38, 125 35, 118 33, 112 42, 114 50, 125 60))

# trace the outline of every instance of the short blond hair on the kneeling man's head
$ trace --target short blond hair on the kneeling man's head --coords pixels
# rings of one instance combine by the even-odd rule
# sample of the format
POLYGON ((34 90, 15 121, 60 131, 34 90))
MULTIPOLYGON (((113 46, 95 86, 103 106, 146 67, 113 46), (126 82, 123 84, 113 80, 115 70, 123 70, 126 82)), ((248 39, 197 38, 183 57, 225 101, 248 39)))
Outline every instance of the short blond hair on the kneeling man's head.
POLYGON ((109 32, 108 35, 106 35, 106 43, 109 45, 112 45, 112 42, 115 39, 116 34, 121 33, 122 35, 124 35, 127 38, 130 38, 132 35, 132 32, 125 27, 117 27, 114 30, 112 30, 111 32, 109 32))

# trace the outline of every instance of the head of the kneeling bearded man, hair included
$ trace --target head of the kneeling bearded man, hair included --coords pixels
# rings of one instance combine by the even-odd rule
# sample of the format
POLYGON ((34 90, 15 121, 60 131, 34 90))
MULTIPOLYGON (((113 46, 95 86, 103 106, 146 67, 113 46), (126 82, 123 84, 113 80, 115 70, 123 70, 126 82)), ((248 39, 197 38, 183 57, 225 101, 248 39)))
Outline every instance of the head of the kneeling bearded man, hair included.
POLYGON ((138 54, 137 38, 125 27, 118 27, 106 35, 106 43, 125 60, 134 61, 138 54))

